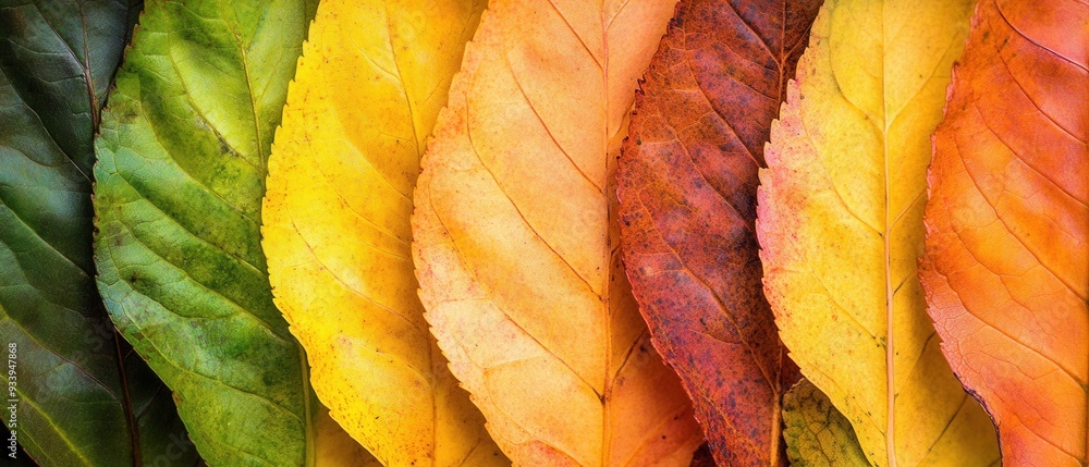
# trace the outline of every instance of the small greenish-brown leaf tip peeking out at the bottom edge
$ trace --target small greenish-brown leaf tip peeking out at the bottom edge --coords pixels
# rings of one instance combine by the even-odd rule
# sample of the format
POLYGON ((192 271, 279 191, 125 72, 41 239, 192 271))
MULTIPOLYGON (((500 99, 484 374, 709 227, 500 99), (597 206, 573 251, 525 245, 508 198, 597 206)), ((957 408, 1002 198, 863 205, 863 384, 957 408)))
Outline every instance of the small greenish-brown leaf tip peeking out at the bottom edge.
POLYGON ((783 438, 792 466, 869 466, 847 418, 809 380, 783 396, 783 438))

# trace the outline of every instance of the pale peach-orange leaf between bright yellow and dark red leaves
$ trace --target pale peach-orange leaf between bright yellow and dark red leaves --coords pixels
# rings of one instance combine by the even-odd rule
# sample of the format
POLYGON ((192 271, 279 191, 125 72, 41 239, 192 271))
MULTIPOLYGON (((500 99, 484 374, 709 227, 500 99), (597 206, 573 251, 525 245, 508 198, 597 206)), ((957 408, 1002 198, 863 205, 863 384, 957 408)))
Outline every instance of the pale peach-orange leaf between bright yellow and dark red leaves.
POLYGON ((516 465, 686 466, 702 442, 621 269, 611 176, 673 7, 491 2, 424 156, 426 317, 516 465))

